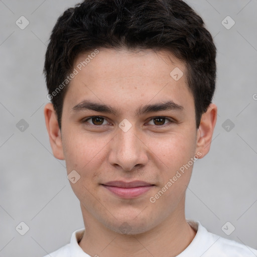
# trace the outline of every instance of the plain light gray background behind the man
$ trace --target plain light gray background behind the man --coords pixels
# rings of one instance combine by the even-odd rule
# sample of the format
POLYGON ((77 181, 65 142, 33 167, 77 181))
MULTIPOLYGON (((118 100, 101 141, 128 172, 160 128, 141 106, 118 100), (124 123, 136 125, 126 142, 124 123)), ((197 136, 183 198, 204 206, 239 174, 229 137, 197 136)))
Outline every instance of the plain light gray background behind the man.
MULTIPOLYGON (((47 42, 57 18, 75 3, 0 1, 0 257, 43 256, 83 227, 79 201, 65 162, 52 155, 43 115, 47 42), (24 30, 16 25, 21 16, 30 22, 24 30), (16 125, 21 119, 29 124, 24 131, 16 125), (22 221, 29 226, 25 235, 16 230, 22 221)), ((257 1, 187 3, 203 18, 218 50, 213 99, 218 118, 209 154, 194 165, 186 217, 257 248, 257 1), (229 30, 222 25, 227 16, 235 21, 229 30), (230 124, 222 126, 226 119, 230 124), (227 221, 226 231, 235 227, 230 235, 221 229, 227 221)))

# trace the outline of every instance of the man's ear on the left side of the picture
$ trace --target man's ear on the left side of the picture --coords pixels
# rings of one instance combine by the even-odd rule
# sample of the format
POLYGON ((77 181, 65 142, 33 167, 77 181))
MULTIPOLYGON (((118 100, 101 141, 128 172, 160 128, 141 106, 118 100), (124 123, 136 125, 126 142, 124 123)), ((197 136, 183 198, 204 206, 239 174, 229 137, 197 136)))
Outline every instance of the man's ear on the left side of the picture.
POLYGON ((44 108, 44 115, 53 155, 59 160, 64 160, 61 131, 52 103, 46 104, 44 108))

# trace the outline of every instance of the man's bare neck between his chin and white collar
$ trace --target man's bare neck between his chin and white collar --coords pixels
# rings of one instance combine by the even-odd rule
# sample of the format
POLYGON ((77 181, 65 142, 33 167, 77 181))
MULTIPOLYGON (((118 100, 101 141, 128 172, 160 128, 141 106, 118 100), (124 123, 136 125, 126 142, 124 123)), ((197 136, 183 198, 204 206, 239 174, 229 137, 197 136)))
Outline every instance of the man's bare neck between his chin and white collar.
MULTIPOLYGON (((134 235, 117 233, 99 222, 81 205, 85 233, 79 246, 89 255, 177 256, 193 240, 196 231, 186 222, 185 214, 167 217, 151 230, 134 235)), ((182 208, 184 213, 184 208, 182 208)))

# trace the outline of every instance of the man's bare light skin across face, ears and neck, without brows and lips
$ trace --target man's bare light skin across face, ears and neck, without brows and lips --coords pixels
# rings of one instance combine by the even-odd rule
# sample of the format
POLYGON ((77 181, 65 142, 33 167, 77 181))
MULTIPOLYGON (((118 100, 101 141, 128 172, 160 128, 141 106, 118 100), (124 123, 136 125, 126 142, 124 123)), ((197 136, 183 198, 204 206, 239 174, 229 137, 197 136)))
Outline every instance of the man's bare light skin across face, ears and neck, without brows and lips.
MULTIPOLYGON (((86 57, 80 54, 73 68, 86 57)), ((190 158, 197 153, 203 158, 210 149, 217 106, 209 105, 197 130, 185 73, 185 65, 165 50, 103 48, 70 82, 61 131, 52 103, 45 106, 54 156, 66 161, 67 174, 75 170, 80 175, 70 184, 85 225, 79 245, 91 256, 176 256, 193 240, 196 232, 185 219, 193 165, 155 203, 150 202, 190 158), (176 67, 184 72, 178 81, 170 76, 176 67), (119 113, 72 112, 82 100, 110 105, 119 113), (167 100, 184 110, 135 114, 140 106, 167 100), (104 119, 84 121, 96 115, 104 119), (153 119, 156 116, 168 119, 153 119), (132 125, 127 132, 118 126, 123 119, 132 125), (123 199, 100 185, 113 180, 142 180, 155 186, 139 197, 123 199)))

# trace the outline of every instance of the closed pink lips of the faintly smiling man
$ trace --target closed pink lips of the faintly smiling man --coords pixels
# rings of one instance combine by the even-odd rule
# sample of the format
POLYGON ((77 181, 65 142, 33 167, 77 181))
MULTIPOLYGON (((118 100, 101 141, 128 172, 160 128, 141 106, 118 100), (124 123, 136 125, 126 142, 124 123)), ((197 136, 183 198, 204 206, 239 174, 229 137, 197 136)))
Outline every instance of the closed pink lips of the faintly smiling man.
POLYGON ((111 193, 126 199, 136 198, 154 187, 153 184, 139 180, 132 182, 124 182, 120 180, 110 181, 101 185, 108 189, 111 193))

